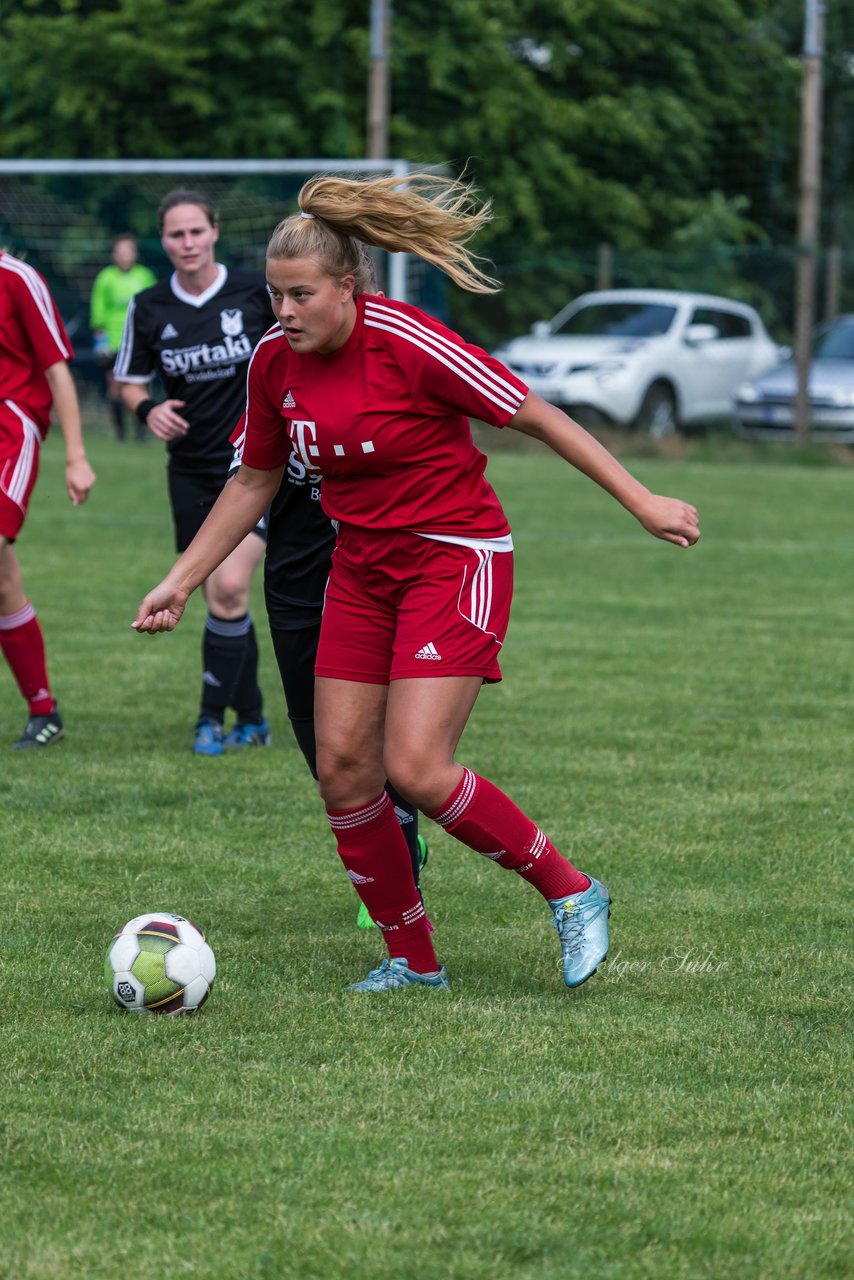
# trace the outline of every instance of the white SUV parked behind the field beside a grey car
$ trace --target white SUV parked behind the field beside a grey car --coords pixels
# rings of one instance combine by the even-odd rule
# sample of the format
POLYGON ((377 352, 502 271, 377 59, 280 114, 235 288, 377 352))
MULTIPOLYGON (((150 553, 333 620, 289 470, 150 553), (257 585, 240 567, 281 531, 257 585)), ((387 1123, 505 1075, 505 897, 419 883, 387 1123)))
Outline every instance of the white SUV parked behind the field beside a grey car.
POLYGON ((581 421, 672 435, 732 413, 736 389, 780 348, 753 310, 707 293, 583 293, 495 356, 533 392, 581 421))

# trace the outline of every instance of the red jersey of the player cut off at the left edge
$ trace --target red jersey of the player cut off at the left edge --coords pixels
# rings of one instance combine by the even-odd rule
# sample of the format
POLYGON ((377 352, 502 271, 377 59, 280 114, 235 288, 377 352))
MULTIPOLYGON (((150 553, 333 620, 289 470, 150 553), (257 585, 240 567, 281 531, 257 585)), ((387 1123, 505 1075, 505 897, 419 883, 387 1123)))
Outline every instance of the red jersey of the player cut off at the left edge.
POLYGON ((52 403, 45 370, 73 355, 56 303, 38 271, 0 253, 0 401, 12 401, 42 435, 50 426, 52 403))

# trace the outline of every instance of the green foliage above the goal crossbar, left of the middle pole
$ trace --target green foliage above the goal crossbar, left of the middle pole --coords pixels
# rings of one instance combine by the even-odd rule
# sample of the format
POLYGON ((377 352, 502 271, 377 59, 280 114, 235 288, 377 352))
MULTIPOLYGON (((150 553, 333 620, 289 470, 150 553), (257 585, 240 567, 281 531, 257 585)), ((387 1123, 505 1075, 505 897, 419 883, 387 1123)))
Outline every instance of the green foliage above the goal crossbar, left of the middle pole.
POLYGON ((24 0, 0 19, 3 150, 359 156, 361 33, 343 8, 293 5, 286 23, 279 0, 24 0))

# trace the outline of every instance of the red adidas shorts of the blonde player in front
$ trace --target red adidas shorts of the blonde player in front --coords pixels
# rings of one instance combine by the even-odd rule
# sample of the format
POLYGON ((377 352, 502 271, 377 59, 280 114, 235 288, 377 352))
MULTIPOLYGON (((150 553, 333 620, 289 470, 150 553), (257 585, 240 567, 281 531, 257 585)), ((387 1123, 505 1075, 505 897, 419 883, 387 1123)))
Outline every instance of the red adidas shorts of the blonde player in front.
POLYGON ((512 552, 343 527, 332 557, 315 675, 388 685, 501 680, 512 552))

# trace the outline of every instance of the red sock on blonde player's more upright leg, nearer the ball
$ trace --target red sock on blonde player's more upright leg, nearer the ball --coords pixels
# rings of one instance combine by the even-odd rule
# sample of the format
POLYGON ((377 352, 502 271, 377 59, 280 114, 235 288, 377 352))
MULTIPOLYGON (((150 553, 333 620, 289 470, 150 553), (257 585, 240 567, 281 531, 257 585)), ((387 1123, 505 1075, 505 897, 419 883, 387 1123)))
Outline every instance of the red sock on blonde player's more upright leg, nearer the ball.
POLYGON ((435 973, 424 904, 412 878, 406 837, 388 792, 360 809, 326 809, 338 854, 353 888, 382 931, 389 956, 406 956, 415 973, 435 973))

